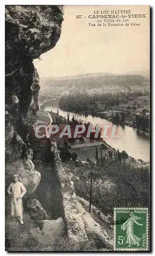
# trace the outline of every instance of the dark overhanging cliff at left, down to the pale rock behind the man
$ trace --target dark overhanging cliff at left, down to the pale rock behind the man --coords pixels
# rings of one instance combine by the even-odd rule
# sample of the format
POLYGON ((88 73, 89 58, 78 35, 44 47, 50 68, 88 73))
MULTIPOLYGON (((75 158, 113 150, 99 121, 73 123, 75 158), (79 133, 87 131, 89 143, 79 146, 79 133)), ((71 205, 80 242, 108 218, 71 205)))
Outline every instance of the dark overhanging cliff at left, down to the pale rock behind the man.
POLYGON ((40 181, 31 158, 21 157, 37 119, 39 76, 33 59, 52 49, 61 33, 61 6, 6 6, 6 183, 17 173, 28 194, 40 181), (13 167, 12 167, 13 166, 13 167))

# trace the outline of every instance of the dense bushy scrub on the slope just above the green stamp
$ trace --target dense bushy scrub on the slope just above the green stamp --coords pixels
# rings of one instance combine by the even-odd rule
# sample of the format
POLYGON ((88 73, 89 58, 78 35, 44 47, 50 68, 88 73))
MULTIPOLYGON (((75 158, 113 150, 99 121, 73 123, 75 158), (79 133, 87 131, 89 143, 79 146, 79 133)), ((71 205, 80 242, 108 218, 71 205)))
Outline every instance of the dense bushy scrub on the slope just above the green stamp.
POLYGON ((113 216, 115 207, 149 207, 147 167, 134 167, 118 159, 104 163, 98 160, 93 165, 70 161, 68 165, 72 169, 76 194, 88 201, 93 170, 92 204, 103 214, 113 216))

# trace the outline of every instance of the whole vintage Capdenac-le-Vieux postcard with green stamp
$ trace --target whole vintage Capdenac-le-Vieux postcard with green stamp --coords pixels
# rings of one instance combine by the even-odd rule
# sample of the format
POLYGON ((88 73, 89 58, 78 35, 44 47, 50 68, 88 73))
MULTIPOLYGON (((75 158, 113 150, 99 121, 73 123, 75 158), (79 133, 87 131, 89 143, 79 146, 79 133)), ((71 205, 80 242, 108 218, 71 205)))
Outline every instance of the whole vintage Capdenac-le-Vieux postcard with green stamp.
POLYGON ((150 7, 5 6, 6 251, 150 251, 150 7))

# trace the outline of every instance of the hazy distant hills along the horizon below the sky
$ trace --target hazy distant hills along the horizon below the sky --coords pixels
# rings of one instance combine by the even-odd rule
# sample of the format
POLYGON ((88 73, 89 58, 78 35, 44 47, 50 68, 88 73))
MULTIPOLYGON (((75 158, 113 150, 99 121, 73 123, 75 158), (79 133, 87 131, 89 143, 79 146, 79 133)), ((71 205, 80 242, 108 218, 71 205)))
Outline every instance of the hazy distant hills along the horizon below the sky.
POLYGON ((39 94, 51 98, 71 92, 93 94, 149 90, 149 86, 149 78, 136 74, 79 74, 65 77, 41 77, 39 94))

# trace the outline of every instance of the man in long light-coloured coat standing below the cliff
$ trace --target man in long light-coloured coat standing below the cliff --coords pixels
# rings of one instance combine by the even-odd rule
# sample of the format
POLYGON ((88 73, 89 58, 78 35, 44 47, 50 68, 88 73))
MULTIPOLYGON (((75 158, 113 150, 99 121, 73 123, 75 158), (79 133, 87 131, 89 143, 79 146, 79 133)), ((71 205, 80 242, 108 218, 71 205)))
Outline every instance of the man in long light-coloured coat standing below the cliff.
POLYGON ((13 175, 13 182, 10 183, 8 187, 8 194, 11 196, 11 216, 13 220, 18 218, 20 224, 23 222, 23 204, 21 198, 26 194, 26 188, 23 183, 19 182, 19 176, 17 174, 13 175))

